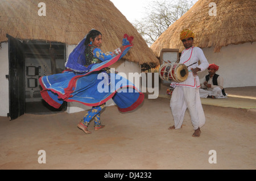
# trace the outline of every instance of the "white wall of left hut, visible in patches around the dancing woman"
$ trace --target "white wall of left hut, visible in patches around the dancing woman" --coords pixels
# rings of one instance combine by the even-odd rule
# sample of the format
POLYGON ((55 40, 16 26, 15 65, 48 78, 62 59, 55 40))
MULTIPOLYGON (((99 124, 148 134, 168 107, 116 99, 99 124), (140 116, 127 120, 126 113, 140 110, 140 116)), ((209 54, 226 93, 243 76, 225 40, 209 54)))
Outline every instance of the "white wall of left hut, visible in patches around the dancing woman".
MULTIPOLYGON (((69 54, 72 52, 72 50, 75 48, 75 45, 68 45, 67 46, 67 59, 69 54)), ((130 61, 125 61, 125 60, 119 60, 118 62, 115 62, 110 68, 114 68, 116 71, 119 73, 125 73, 126 78, 135 83, 135 81, 132 79, 132 77, 129 77, 129 73, 138 73, 141 74, 141 65, 130 62, 130 61)), ((139 89, 139 83, 135 83, 135 86, 139 89)), ((108 102, 106 102, 106 106, 113 106, 115 103, 113 102, 112 99, 110 99, 108 102)), ((67 112, 68 113, 75 113, 75 112, 81 112, 85 110, 90 110, 91 107, 85 106, 84 104, 77 103, 77 102, 69 102, 68 103, 68 108, 67 112)))

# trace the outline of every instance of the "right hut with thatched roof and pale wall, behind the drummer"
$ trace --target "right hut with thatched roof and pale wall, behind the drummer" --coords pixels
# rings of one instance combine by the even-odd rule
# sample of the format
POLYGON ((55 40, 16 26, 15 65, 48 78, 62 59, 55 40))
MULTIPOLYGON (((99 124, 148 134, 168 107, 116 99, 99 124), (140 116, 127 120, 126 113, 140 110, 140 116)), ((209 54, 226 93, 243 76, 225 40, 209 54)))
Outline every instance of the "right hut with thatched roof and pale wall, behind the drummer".
MULTIPOLYGON (((181 52, 184 47, 179 34, 189 28, 196 35, 194 45, 203 49, 210 64, 220 66, 217 73, 224 77, 225 87, 255 86, 255 12, 255 0, 199 0, 152 44, 151 49, 157 57, 164 48, 181 52)), ((200 78, 207 73, 200 73, 200 78)))

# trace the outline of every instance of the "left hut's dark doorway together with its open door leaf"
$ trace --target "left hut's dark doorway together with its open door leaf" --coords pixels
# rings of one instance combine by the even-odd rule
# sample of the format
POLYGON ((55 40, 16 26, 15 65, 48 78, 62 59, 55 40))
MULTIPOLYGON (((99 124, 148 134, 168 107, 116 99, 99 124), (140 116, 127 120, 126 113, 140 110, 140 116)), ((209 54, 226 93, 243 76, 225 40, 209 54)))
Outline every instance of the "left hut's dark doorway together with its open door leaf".
POLYGON ((9 113, 14 120, 24 113, 46 114, 67 110, 48 105, 40 95, 39 78, 65 69, 65 44, 9 38, 9 113))

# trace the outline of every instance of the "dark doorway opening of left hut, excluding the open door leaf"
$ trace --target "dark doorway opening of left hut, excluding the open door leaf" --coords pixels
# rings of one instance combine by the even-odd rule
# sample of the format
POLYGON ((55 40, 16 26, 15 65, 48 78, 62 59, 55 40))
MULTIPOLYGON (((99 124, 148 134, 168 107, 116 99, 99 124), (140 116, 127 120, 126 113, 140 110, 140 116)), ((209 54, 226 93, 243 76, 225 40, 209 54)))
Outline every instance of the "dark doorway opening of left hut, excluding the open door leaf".
POLYGON ((40 91, 39 78, 61 73, 65 69, 65 44, 46 43, 43 41, 26 41, 24 45, 24 82, 26 113, 54 113, 67 109, 67 103, 53 108, 46 103, 40 91))

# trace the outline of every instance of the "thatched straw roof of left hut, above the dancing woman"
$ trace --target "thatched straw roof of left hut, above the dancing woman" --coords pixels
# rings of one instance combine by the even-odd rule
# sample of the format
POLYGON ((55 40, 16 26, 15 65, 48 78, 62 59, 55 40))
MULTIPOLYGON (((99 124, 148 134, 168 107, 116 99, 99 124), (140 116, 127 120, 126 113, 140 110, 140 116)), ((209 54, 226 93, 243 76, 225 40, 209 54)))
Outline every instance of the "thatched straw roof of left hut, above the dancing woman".
POLYGON ((92 28, 102 33, 102 50, 121 46, 125 33, 134 36, 134 47, 124 57, 139 64, 159 64, 142 36, 109 0, 1 0, 0 43, 6 33, 21 40, 57 41, 76 45, 92 28), (39 16, 38 4, 46 4, 39 16))

